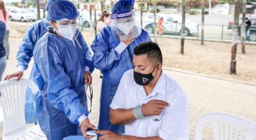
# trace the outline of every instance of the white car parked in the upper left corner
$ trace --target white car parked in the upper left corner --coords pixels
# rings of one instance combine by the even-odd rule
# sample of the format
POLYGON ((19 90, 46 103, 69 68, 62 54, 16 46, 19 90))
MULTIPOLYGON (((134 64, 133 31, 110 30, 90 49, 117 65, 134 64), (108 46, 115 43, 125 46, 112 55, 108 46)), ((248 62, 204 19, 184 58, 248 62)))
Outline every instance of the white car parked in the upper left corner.
POLYGON ((28 20, 35 21, 36 15, 24 9, 12 9, 10 10, 10 20, 19 20, 26 22, 28 20))

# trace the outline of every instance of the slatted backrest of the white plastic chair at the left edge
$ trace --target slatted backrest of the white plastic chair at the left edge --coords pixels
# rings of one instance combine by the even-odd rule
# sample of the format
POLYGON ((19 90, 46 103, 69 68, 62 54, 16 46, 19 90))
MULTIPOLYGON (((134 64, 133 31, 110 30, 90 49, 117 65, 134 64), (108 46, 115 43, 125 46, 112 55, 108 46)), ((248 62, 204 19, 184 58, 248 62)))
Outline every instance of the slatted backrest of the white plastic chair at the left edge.
POLYGON ((4 128, 3 134, 7 135, 26 127, 24 106, 26 89, 31 88, 35 94, 38 91, 31 80, 17 79, 0 83, 0 104, 3 108, 4 128))

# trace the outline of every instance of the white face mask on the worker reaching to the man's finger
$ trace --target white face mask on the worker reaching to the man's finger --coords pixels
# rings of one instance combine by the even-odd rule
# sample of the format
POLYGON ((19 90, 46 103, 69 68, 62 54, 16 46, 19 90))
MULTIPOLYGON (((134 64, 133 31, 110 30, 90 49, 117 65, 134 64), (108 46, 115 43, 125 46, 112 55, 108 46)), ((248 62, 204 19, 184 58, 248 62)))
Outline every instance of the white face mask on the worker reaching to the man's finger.
POLYGON ((72 40, 76 33, 77 24, 69 24, 69 25, 58 25, 58 34, 60 34, 63 38, 67 38, 72 40))

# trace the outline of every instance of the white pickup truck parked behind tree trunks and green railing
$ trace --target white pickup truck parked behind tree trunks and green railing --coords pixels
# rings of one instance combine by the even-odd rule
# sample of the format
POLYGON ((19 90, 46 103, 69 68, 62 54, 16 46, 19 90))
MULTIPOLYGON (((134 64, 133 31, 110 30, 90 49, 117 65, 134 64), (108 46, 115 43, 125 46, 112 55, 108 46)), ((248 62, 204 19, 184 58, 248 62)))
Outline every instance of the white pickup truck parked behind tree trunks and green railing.
MULTIPOLYGON (((156 22, 159 17, 163 17, 163 32, 164 33, 180 33, 182 18, 179 15, 172 14, 157 14, 156 22)), ((153 34, 154 29, 154 13, 149 13, 147 18, 143 19, 143 29, 149 34, 153 34)), ((195 22, 186 20, 185 36, 196 34, 198 32, 198 25, 195 22)))

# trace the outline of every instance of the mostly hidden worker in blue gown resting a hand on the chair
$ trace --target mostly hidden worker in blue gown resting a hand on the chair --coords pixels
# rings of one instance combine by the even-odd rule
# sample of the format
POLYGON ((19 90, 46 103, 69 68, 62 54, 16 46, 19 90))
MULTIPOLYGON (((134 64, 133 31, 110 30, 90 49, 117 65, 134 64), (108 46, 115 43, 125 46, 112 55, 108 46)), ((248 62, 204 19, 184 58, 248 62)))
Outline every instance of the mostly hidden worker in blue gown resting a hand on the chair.
MULTIPOLYGON (((47 0, 47 6, 46 10, 49 10, 49 6, 56 2, 61 0, 47 0)), ((28 31, 26 32, 22 43, 19 46, 19 51, 17 52, 17 72, 13 74, 7 75, 4 80, 10 80, 10 78, 22 78, 23 73, 26 69, 28 69, 28 64, 31 60, 31 57, 33 57, 33 50, 35 47, 36 42, 38 39, 40 39, 45 32, 47 32, 47 28, 51 29, 51 24, 49 21, 47 21, 45 18, 42 20, 36 21, 34 24, 32 24, 28 31)), ((83 36, 78 36, 77 39, 83 40, 83 36)), ((87 46, 84 46, 87 47, 87 46)), ((86 59, 90 60, 92 59, 92 55, 90 52, 86 52, 86 59)), ((88 61, 86 62, 86 66, 92 71, 93 62, 88 61)), ((35 71, 35 66, 33 65, 31 74, 29 76, 30 80, 33 80, 33 77, 36 77, 36 73, 33 74, 33 71, 35 71)), ((90 85, 92 83, 92 77, 88 74, 84 74, 84 78, 86 80, 86 83, 90 85)), ((25 116, 26 116, 26 123, 36 123, 36 116, 35 116, 35 108, 34 108, 34 98, 32 96, 31 90, 28 90, 26 92, 26 105, 25 105, 25 116)))

